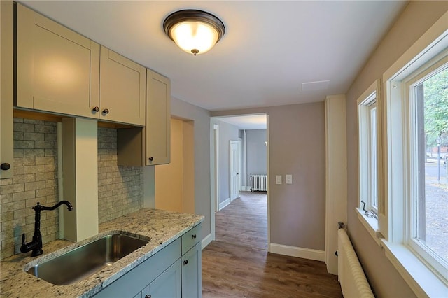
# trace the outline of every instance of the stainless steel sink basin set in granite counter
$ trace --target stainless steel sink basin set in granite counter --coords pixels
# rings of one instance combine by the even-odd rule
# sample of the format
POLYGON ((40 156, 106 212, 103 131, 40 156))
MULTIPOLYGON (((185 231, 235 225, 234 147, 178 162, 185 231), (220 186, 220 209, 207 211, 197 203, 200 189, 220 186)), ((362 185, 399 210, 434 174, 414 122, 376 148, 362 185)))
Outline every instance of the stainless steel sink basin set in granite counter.
POLYGON ((111 234, 31 267, 27 272, 54 285, 69 285, 94 274, 148 243, 111 234))

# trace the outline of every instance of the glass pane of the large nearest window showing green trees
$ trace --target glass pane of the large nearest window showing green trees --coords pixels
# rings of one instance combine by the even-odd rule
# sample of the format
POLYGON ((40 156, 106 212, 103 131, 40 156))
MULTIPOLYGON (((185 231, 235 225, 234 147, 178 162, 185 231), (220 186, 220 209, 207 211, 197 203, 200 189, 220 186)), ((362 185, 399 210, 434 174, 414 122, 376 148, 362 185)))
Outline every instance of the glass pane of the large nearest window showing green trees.
POLYGON ((416 235, 448 262, 448 68, 416 85, 416 235))

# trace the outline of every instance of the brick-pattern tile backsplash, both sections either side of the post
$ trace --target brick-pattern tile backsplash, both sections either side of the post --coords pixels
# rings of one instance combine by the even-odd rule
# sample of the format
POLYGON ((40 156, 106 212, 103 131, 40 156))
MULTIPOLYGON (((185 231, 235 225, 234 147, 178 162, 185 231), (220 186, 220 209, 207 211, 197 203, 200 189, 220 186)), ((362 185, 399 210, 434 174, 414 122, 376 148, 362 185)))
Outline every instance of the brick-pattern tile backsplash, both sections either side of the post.
MULTIPOLYGON (((99 222, 143 208, 143 168, 117 166, 117 132, 98 129, 99 222)), ((0 180, 0 258, 20 253, 22 233, 31 241, 37 202, 58 201, 57 124, 14 118, 13 178, 0 180)), ((43 243, 59 238, 59 210, 41 213, 43 243)))

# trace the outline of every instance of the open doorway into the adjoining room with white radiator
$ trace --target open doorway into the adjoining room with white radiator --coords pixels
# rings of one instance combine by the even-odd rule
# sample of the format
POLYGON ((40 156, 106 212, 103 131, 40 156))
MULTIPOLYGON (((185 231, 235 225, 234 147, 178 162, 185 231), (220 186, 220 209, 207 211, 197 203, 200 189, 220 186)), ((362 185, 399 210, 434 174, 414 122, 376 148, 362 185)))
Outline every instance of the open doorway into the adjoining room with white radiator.
MULTIPOLYGON (((258 248, 267 249, 268 195, 266 192, 255 194, 250 192, 251 173, 264 175, 268 173, 267 115, 211 118, 211 129, 211 194, 214 211, 211 214, 212 239, 218 241, 218 237, 219 241, 226 241, 225 237, 222 237, 222 232, 228 232, 223 230, 217 232, 217 229, 229 227, 231 232, 228 239, 251 234, 250 239, 264 239, 261 245, 257 245, 258 248), (244 122, 244 125, 241 125, 241 122, 244 122), (258 150, 257 146, 262 150, 258 150), (254 201, 255 198, 258 200, 254 201), (251 207, 251 204, 254 205, 251 207), (254 211, 255 215, 249 215, 251 211, 254 211), (229 219, 227 222, 226 218, 229 219), (230 227, 244 220, 255 226, 249 228, 250 225, 246 224, 247 230, 244 230, 244 225, 241 229, 237 225, 230 227), (260 237, 255 236, 257 232, 260 232, 260 237), (232 237, 233 233, 236 233, 235 237, 232 237)), ((250 242, 248 241, 249 244, 250 242)))

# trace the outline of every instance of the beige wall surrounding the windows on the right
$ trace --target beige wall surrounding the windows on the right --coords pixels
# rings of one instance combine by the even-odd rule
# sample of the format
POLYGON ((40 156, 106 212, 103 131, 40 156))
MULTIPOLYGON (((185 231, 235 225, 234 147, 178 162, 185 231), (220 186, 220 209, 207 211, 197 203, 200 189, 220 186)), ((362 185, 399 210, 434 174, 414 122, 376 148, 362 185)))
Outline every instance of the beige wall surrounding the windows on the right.
POLYGON ((356 99, 374 80, 381 78, 384 71, 447 10, 448 1, 410 1, 346 94, 349 236, 377 297, 415 295, 363 225, 360 225, 354 210, 358 206, 356 99))

